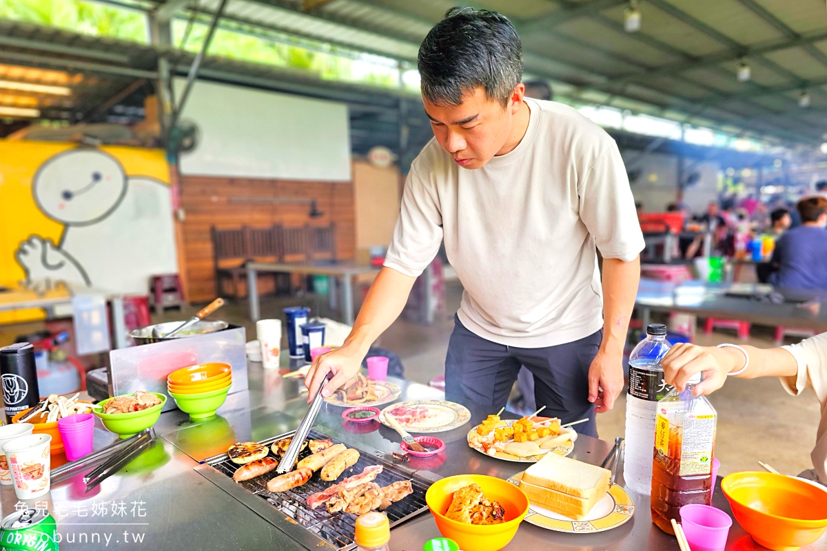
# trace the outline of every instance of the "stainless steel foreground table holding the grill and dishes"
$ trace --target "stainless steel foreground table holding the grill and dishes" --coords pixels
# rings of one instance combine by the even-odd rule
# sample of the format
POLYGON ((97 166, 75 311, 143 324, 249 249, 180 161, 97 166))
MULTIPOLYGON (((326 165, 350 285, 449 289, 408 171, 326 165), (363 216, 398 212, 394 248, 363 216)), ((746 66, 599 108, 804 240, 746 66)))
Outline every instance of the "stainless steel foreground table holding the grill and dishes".
MULTIPOLYGON (((286 354, 283 357, 286 364, 286 354)), ((251 363, 250 386, 251 390, 232 395, 213 419, 192 423, 178 410, 161 414, 155 425, 160 434, 155 446, 91 495, 84 493, 81 475, 77 475, 56 484, 45 498, 35 500, 45 502, 41 505, 47 505, 55 515, 62 538, 60 549, 306 549, 194 471, 197 459, 223 453, 231 443, 269 438, 294 429, 299 423, 307 408, 300 380, 284 379, 278 371, 265 371, 260 363, 251 363), (140 539, 141 543, 136 543, 140 539)), ((442 395, 416 383, 403 381, 402 386, 402 399, 442 395)), ((480 410, 471 423, 484 413, 487 412, 480 410)), ((341 414, 342 408, 325 405, 316 429, 354 446, 383 452, 399 450, 399 437, 390 429, 383 426, 370 433, 354 434, 342 427, 341 414)), ((523 464, 489 458, 469 448, 466 433, 471 426, 466 424, 439 434, 447 448, 422 468, 443 477, 474 472, 506 478, 523 470, 523 464)), ((96 433, 98 446, 111 440, 112 435, 103 429, 96 433)), ((581 437, 573 457, 599 463, 609 448, 609 443, 581 437)), ((0 487, 2 515, 14 510, 16 502, 12 486, 0 487)), ((617 529, 600 534, 560 534, 523 523, 505 549, 678 549, 672 536, 652 524, 648 497, 636 498, 635 502, 633 519, 617 529)), ((719 489, 715 492, 715 505, 729 512, 719 489)), ((438 535, 433 517, 425 513, 394 528, 390 548, 422 549, 425 541, 438 535)), ((762 548, 734 525, 728 549, 762 548)), ((825 551, 827 538, 802 549, 825 551)))

